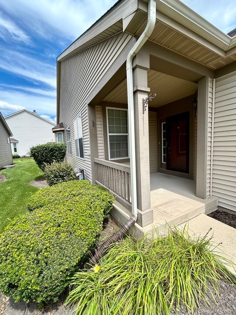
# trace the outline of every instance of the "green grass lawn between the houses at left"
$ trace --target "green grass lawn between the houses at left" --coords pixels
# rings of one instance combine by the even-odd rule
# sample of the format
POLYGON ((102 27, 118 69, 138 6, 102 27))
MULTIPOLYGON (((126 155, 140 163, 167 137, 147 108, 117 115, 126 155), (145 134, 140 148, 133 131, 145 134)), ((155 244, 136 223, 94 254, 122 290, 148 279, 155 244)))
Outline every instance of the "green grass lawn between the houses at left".
POLYGON ((15 217, 28 212, 26 202, 36 187, 28 183, 42 176, 32 158, 17 158, 15 167, 1 170, 7 181, 0 183, 0 232, 15 217))

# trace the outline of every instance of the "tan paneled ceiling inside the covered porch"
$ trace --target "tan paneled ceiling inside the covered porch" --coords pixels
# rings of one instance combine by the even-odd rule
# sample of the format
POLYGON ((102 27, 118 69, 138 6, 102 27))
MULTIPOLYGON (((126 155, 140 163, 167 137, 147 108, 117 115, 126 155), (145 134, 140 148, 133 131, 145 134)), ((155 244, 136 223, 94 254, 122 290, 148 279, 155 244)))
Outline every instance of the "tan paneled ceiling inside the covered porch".
MULTIPOLYGON (((197 83, 173 77, 168 74, 148 71, 148 87, 156 97, 151 101, 151 107, 159 107, 178 99, 193 95, 198 88, 197 83)), ((110 92, 104 101, 127 104, 126 79, 110 92)))

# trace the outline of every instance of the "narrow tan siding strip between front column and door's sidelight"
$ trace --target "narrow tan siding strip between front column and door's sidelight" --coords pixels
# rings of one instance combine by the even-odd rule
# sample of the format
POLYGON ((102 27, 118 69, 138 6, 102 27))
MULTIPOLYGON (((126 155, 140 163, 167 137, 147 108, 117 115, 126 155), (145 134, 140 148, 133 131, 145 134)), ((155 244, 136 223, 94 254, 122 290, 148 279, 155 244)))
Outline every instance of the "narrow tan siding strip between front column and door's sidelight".
POLYGON ((150 173, 157 172, 157 117, 156 112, 148 112, 149 163, 150 173))

